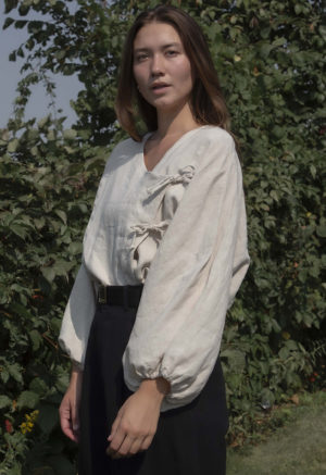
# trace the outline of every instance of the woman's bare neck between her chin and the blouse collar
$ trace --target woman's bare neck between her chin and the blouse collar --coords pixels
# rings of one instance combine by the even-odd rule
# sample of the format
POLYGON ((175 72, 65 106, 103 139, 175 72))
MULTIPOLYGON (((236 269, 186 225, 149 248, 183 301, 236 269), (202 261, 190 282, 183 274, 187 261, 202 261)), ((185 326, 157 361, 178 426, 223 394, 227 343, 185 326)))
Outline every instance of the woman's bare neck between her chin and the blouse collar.
POLYGON ((185 134, 198 126, 199 124, 195 121, 188 103, 177 111, 158 110, 156 138, 162 139, 172 135, 185 134))

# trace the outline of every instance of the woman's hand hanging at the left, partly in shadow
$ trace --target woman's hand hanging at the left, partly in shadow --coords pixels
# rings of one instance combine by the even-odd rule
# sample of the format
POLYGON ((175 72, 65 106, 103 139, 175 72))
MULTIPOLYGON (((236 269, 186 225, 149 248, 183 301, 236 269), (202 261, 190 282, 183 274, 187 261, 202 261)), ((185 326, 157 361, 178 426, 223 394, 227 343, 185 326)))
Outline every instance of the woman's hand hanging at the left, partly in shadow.
POLYGON ((59 408, 62 432, 74 442, 79 441, 79 403, 82 396, 83 371, 72 371, 70 386, 59 408))

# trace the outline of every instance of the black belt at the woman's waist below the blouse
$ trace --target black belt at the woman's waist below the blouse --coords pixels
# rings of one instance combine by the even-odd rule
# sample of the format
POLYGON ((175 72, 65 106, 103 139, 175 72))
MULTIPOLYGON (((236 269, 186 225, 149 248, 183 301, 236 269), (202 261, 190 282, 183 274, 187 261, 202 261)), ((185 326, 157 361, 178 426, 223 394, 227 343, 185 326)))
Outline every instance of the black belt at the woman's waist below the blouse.
POLYGON ((98 289, 98 303, 118 305, 125 309, 137 309, 140 302, 142 285, 139 286, 103 286, 98 289))

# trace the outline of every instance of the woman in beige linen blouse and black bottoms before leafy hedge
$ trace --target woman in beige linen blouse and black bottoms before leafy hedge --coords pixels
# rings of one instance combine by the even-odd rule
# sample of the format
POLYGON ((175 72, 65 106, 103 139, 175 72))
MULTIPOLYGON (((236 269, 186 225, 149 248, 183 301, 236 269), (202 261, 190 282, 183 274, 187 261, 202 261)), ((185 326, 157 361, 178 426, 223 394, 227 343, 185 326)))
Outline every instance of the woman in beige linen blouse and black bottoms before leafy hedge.
POLYGON ((131 138, 106 163, 62 323, 73 361, 62 429, 79 442, 78 475, 224 474, 218 351, 249 265, 246 212, 227 110, 188 14, 161 5, 136 20, 116 111, 131 138))

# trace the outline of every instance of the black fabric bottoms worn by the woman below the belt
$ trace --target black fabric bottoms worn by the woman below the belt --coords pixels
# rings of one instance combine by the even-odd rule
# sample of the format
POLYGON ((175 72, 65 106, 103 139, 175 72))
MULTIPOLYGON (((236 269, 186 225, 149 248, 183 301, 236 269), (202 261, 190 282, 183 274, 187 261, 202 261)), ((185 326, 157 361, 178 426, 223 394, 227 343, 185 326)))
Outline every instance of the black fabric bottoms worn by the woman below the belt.
POLYGON ((133 393, 122 357, 135 317, 136 310, 122 307, 97 309, 83 376, 78 475, 225 475, 228 418, 220 359, 192 402, 161 413, 147 451, 117 460, 105 454, 112 423, 133 393))

